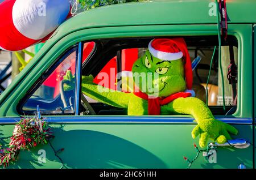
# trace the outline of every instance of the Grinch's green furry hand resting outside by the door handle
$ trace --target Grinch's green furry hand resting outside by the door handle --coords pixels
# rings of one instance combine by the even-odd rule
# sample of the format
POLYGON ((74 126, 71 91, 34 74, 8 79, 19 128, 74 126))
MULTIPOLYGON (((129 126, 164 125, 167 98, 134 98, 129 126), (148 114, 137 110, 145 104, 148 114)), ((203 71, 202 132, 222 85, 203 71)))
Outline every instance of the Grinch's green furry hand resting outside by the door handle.
POLYGON ((201 148, 207 145, 208 139, 223 144, 226 140, 232 139, 229 133, 237 135, 238 131, 233 126, 216 119, 205 119, 200 121, 192 131, 192 138, 200 135, 199 145, 201 148))

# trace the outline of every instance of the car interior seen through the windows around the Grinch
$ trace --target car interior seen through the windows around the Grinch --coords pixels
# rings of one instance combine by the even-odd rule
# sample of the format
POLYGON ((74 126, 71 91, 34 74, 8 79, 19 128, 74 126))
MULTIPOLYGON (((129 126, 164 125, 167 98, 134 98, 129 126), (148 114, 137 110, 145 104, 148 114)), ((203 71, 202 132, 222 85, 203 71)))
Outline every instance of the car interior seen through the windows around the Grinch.
MULTIPOLYGON (((126 70, 126 66, 130 66, 128 69, 131 71, 132 63, 143 55, 152 38, 154 37, 113 38, 93 41, 93 48, 89 49, 89 53, 83 55, 82 76, 93 75, 95 78, 94 83, 98 83, 97 75, 102 71, 109 73, 109 67, 114 68, 115 74, 126 70)), ((214 115, 229 115, 234 113, 236 111, 237 99, 232 98, 232 84, 229 84, 227 74, 228 65, 230 63, 230 48, 233 48, 234 59, 237 63, 237 39, 233 36, 228 36, 228 41, 221 42, 221 61, 222 71, 224 72, 223 80, 225 83, 224 93, 226 106, 224 112, 223 92, 220 85, 222 77, 218 62, 218 37, 188 36, 183 38, 187 43, 192 64, 194 59, 200 57, 200 61, 195 64, 193 70, 193 90, 196 92, 196 97, 204 102, 208 101, 208 106, 214 115), (216 48, 216 51, 213 54, 214 47, 216 48), (206 91, 207 87, 208 91, 206 91)), ((85 44, 86 43, 87 42, 85 42, 85 44)), ((72 50, 76 50, 76 48, 72 48, 72 50)), ((70 52, 71 50, 69 50, 69 53, 70 52)), ((68 53, 68 51, 65 53, 68 53)), ((64 55, 64 57, 56 62, 63 61, 65 57, 67 58, 67 55, 64 55)), ((42 109, 41 113, 44 115, 73 114, 74 89, 64 92, 63 86, 61 86, 62 83, 60 83, 59 87, 55 87, 59 88, 59 94, 53 97, 51 94, 53 93, 52 91, 54 91, 54 88, 46 88, 46 85, 43 84, 56 67, 57 65, 49 68, 47 73, 45 73, 44 77, 41 79, 41 82, 38 82, 30 92, 27 92, 27 96, 19 105, 20 108, 17 109, 19 113, 27 115, 35 114, 36 105, 39 105, 40 109, 42 109), (49 98, 50 100, 35 95, 35 91, 42 86, 44 88, 40 88, 40 90, 44 91, 44 93, 50 91, 48 92, 50 94, 49 97, 51 97, 49 98)), ((75 72, 73 75, 75 75, 75 72)), ((122 77, 114 80, 114 82, 120 81, 121 78, 122 77)), ((122 91, 122 87, 120 87, 120 85, 118 87, 117 84, 118 83, 113 84, 115 90, 122 91)), ((81 115, 127 115, 127 109, 115 108, 92 100, 84 95, 81 96, 81 105, 79 108, 81 115)))

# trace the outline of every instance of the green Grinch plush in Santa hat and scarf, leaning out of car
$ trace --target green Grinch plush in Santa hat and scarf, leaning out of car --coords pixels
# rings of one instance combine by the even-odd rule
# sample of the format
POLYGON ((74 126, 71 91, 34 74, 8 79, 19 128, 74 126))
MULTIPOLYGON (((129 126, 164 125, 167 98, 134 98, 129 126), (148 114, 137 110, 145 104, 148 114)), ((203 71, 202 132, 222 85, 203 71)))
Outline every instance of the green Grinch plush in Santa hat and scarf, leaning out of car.
MULTIPOLYGON (((190 114, 197 126, 192 138, 200 135, 199 145, 205 147, 208 139, 225 143, 237 135, 233 126, 218 121, 192 89, 191 59, 183 38, 156 38, 148 45, 143 57, 132 68, 135 84, 132 93, 113 91, 93 83, 93 76, 82 76, 81 91, 86 96, 118 108, 127 108, 128 115, 190 114)), ((64 90, 75 85, 71 71, 64 90)))

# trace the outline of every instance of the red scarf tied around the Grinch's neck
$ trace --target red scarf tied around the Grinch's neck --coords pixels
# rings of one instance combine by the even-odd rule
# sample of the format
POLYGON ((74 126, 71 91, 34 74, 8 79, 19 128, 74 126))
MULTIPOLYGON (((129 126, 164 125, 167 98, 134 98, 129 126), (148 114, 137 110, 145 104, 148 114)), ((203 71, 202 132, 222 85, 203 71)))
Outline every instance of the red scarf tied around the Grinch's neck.
POLYGON ((134 95, 148 101, 148 115, 160 115, 160 106, 168 104, 179 97, 190 97, 191 93, 177 92, 168 97, 149 97, 146 93, 139 91, 134 92, 134 95))

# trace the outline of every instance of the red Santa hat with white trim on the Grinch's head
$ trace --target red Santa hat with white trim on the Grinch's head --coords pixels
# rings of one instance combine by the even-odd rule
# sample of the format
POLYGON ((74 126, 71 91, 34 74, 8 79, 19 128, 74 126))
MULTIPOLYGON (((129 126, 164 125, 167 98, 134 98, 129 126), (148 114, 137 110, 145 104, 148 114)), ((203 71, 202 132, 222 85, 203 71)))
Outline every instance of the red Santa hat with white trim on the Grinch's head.
POLYGON ((183 58, 185 81, 187 84, 185 92, 189 92, 195 97, 195 91, 192 90, 193 71, 191 59, 184 38, 155 38, 150 41, 148 50, 154 57, 162 61, 175 61, 183 58))

